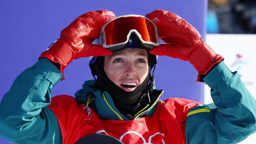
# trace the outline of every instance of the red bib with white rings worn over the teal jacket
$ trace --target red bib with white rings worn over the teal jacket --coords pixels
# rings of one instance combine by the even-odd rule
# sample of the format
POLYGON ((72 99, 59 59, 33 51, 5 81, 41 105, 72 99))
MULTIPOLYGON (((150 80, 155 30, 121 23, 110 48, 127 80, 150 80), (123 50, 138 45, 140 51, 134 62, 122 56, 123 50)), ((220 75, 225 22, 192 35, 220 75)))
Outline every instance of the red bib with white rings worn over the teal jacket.
POLYGON ((152 116, 137 120, 104 120, 72 96, 56 96, 48 106, 59 122, 63 144, 72 144, 87 135, 102 133, 124 144, 185 144, 185 124, 189 109, 198 102, 180 98, 158 102, 152 116))

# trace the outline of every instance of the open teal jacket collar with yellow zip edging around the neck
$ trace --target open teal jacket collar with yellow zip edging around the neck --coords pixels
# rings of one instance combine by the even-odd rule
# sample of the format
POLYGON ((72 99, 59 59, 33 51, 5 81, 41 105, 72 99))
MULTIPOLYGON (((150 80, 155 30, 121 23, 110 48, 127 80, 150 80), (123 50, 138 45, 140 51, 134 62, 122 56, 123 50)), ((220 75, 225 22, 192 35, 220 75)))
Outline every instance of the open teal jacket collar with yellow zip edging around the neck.
MULTIPOLYGON (((163 90, 154 90, 150 94, 151 102, 145 103, 145 107, 135 114, 134 119, 152 115, 162 93, 163 90)), ((117 110, 108 92, 96 89, 95 80, 85 81, 83 88, 75 93, 75 97, 78 103, 85 103, 86 106, 92 107, 102 119, 128 120, 117 110)))

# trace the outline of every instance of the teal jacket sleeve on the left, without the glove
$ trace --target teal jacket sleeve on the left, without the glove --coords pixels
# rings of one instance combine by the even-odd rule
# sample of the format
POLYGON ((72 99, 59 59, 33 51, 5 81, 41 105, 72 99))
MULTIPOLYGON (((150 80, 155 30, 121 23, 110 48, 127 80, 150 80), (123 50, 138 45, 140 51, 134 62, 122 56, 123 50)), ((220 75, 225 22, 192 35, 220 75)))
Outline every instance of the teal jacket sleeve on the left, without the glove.
POLYGON ((57 118, 46 107, 52 87, 61 78, 46 58, 24 70, 0 103, 0 136, 20 144, 62 143, 57 118))

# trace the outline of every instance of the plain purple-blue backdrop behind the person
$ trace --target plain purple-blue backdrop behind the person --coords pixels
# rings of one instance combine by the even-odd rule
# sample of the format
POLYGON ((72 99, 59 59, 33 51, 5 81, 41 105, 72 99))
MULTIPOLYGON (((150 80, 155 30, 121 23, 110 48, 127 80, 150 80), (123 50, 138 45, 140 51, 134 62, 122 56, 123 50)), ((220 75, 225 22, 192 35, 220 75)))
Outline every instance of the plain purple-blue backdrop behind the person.
MULTIPOLYGON (((14 79, 32 66, 41 52, 56 39, 72 20, 88 11, 108 9, 116 16, 146 15, 155 9, 172 11, 190 22, 204 37, 206 33, 207 0, 0 0, 0 100, 14 79)), ((89 59, 74 60, 65 69, 65 81, 53 89, 52 96, 73 96, 85 79, 93 79, 89 59)), ((203 101, 202 83, 197 83, 197 71, 188 62, 158 57, 155 71, 156 87, 169 97, 203 101)), ((0 138, 0 144, 9 144, 0 138)))

